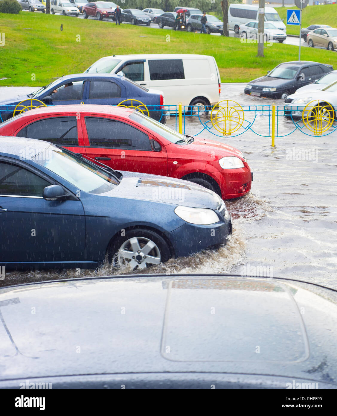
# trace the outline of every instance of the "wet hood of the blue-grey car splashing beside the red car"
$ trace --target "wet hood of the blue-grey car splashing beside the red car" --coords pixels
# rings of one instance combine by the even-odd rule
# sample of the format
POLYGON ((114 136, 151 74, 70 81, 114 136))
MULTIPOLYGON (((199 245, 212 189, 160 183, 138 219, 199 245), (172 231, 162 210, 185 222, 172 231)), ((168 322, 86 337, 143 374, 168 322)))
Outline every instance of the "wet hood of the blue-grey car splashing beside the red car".
POLYGON ((213 210, 219 208, 221 203, 215 192, 197 183, 147 173, 120 172, 123 174, 121 183, 113 190, 98 195, 152 202, 165 200, 168 204, 213 210))

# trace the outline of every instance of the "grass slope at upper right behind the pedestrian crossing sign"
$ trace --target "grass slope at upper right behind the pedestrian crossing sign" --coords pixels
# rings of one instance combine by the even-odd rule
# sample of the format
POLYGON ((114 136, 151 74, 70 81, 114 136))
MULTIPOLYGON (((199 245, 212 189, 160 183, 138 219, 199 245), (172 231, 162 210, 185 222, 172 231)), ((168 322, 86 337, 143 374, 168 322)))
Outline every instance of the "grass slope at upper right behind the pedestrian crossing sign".
MULTIPOLYGON (((287 27, 288 35, 299 35, 300 27, 287 25, 287 9, 297 9, 296 6, 292 7, 277 7, 278 14, 281 19, 284 19, 284 24, 287 27)), ((308 27, 310 25, 330 25, 332 27, 337 26, 337 4, 307 6, 302 10, 302 27, 308 27)))

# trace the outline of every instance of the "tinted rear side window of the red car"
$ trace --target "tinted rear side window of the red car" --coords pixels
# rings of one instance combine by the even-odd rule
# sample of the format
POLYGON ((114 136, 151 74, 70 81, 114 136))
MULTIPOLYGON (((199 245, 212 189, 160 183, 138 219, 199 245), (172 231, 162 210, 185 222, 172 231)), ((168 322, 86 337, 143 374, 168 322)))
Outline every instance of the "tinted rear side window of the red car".
POLYGON ((34 121, 21 129, 17 136, 50 141, 61 146, 79 144, 76 117, 50 117, 34 121))

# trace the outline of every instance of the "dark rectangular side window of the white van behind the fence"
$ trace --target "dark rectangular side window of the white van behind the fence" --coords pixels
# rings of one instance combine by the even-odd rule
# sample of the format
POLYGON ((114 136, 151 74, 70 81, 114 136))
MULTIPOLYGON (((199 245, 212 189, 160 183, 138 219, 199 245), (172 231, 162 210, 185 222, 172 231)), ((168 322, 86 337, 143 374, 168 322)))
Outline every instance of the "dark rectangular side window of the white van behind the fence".
POLYGON ((149 59, 151 81, 184 79, 182 59, 149 59))

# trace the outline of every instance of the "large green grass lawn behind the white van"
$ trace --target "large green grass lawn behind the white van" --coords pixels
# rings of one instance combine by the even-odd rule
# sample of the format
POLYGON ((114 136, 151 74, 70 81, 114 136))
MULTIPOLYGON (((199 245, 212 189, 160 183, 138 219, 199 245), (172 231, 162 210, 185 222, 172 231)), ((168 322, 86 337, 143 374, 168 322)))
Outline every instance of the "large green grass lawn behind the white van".
MULTIPOLYGON (((265 57, 257 58, 257 45, 242 44, 238 38, 42 13, 0 14, 0 32, 5 33, 0 78, 7 78, 0 80, 0 86, 46 85, 55 77, 83 72, 100 57, 113 54, 213 55, 222 82, 248 82, 280 62, 298 59, 298 47, 280 43, 265 47, 265 57)), ((327 50, 303 48, 301 58, 337 66, 335 52, 327 50)))

